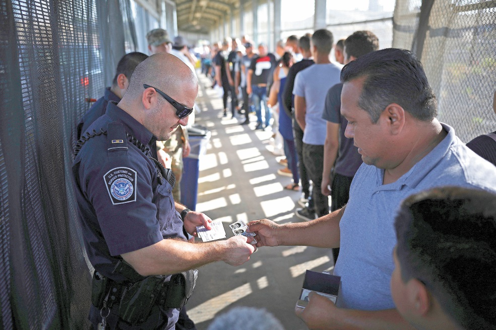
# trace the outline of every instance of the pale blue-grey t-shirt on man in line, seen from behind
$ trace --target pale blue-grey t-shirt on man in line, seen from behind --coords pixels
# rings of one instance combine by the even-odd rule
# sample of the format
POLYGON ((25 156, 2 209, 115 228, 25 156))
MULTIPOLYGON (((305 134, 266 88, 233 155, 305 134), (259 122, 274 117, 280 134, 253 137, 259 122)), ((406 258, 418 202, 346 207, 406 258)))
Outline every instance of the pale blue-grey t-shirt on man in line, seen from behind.
POLYGON ((324 145, 326 141, 327 124, 322 119, 324 103, 329 88, 340 81, 341 68, 334 63, 314 64, 296 74, 293 94, 305 98, 303 142, 306 144, 324 145))

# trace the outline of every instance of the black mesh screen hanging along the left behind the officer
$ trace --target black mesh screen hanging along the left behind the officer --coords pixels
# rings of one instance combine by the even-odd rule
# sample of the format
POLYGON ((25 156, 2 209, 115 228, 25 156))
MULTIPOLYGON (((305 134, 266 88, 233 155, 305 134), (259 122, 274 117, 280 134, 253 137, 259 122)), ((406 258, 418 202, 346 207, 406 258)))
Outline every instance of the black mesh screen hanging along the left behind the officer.
MULTIPOLYGON (((134 29, 130 1, 115 3, 134 29)), ((2 329, 89 327, 92 268, 70 171, 76 124, 116 56, 102 51, 101 33, 115 22, 99 20, 97 4, 0 0, 2 329)))

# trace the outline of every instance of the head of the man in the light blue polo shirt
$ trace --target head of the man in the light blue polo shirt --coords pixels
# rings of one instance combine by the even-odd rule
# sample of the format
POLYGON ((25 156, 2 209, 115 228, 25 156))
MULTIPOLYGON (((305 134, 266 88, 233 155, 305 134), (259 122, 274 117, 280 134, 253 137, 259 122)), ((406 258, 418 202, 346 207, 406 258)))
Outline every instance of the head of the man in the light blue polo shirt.
POLYGON ((344 66, 341 81, 345 136, 353 138, 368 165, 394 169, 412 150, 421 153, 412 141, 430 139, 441 130, 436 96, 411 51, 387 48, 363 54, 344 66))

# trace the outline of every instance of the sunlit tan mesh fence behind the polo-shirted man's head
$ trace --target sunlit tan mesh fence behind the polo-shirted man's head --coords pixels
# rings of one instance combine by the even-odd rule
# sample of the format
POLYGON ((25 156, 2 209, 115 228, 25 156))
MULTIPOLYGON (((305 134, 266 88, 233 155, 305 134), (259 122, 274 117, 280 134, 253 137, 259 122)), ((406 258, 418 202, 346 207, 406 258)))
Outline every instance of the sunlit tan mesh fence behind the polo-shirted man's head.
POLYGON ((496 3, 399 0, 394 42, 420 57, 439 101, 438 118, 464 142, 494 131, 496 3))

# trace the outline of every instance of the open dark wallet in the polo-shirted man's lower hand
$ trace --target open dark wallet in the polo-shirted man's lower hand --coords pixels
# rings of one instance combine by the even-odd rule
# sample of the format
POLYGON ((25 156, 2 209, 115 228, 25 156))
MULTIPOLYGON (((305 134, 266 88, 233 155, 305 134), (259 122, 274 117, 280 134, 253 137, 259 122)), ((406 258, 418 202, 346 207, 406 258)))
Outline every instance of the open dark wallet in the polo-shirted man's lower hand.
POLYGON ((308 294, 312 291, 336 303, 340 285, 341 277, 339 276, 331 275, 328 272, 306 270, 303 287, 296 306, 305 308, 308 305, 308 294))

